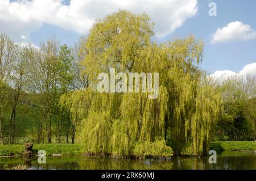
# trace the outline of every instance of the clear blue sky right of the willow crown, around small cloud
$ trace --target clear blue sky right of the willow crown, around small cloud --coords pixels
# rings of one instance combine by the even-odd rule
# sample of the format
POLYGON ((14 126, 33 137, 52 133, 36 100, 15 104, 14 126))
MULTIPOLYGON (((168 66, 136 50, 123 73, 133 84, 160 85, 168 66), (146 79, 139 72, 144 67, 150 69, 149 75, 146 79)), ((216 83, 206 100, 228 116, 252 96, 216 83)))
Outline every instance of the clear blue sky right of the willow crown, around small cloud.
POLYGON ((195 18, 188 19, 182 27, 168 35, 170 37, 187 36, 192 33, 204 40, 204 61, 201 68, 213 73, 216 70, 240 71, 256 62, 256 39, 250 41, 231 41, 210 44, 211 35, 217 28, 227 26, 230 22, 241 21, 256 30, 256 1, 199 1, 199 11, 195 18), (216 2, 217 16, 209 16, 209 2, 216 2))

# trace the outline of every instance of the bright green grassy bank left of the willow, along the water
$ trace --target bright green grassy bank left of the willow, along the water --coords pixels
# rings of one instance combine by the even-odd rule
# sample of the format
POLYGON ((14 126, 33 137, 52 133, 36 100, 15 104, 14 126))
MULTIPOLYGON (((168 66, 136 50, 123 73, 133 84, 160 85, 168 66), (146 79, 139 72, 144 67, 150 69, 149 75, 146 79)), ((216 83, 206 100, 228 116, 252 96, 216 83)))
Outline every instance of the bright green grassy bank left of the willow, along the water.
MULTIPOLYGON (((44 150, 47 155, 74 155, 83 153, 81 146, 77 144, 38 144, 33 146, 33 150, 35 154, 38 150, 44 150)), ((24 145, 0 145, 0 157, 22 155, 23 151, 24 145)))

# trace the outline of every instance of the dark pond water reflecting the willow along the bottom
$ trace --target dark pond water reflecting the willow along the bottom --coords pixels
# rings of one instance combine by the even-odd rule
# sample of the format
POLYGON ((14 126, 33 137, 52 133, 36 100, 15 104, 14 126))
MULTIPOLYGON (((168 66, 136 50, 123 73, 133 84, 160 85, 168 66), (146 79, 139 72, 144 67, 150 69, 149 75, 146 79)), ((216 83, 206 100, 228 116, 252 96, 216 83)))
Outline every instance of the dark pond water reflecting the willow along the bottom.
POLYGON ((171 159, 114 159, 85 157, 81 155, 47 157, 46 164, 39 164, 38 159, 23 157, 0 158, 0 170, 18 164, 30 169, 253 169, 256 170, 254 152, 224 151, 217 155, 217 163, 210 164, 209 157, 172 157, 171 159))

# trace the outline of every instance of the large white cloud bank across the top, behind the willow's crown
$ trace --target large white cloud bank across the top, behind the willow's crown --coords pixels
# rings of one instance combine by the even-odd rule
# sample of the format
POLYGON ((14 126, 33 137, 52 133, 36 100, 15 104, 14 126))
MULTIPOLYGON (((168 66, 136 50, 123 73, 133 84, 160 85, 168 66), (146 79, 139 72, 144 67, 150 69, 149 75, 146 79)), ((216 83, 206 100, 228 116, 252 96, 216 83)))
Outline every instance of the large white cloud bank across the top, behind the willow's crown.
POLYGON ((157 36, 165 36, 197 13, 197 0, 0 0, 0 32, 14 40, 38 30, 43 23, 85 34, 98 18, 118 11, 146 12, 155 22, 157 36))

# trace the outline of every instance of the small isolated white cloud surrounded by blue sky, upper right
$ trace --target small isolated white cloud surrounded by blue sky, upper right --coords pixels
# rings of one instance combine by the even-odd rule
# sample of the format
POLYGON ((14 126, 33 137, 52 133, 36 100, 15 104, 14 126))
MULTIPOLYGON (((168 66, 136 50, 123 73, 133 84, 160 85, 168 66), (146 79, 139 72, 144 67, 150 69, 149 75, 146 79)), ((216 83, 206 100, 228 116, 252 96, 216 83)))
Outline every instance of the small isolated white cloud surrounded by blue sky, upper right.
POLYGON ((220 43, 225 41, 247 41, 256 38, 256 32, 249 24, 242 22, 231 22, 228 26, 218 28, 212 35, 211 43, 220 43))

